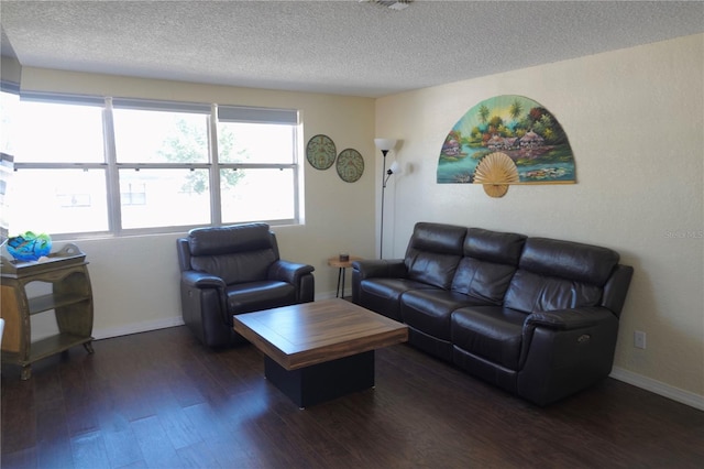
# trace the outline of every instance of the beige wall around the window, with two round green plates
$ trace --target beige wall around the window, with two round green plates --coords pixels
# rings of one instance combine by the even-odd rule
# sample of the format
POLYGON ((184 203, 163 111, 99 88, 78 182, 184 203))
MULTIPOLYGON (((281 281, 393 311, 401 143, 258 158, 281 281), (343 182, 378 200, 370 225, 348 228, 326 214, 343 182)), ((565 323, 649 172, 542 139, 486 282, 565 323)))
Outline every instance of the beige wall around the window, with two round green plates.
MULTIPOLYGON (((22 69, 21 88, 178 101, 218 102, 302 111, 301 167, 305 225, 274 227, 282 255, 316 268, 316 295, 334 296, 337 270, 327 259, 341 250, 374 255, 374 100, 329 95, 277 92, 69 72, 22 69), (308 139, 329 135, 338 152, 354 148, 365 160, 360 181, 345 183, 334 166, 318 171, 305 156, 308 139)), ((174 207, 174 209, 178 209, 174 207)), ((90 261, 95 336, 109 337, 182 323, 176 234, 76 240, 90 261)), ((61 246, 61 241, 57 244, 61 246)), ((349 283, 349 275, 348 275, 349 283)), ((349 290, 348 290, 349 292, 349 290)), ((37 321, 35 337, 52 332, 37 321)))

